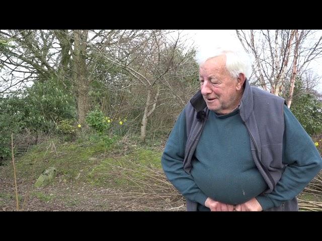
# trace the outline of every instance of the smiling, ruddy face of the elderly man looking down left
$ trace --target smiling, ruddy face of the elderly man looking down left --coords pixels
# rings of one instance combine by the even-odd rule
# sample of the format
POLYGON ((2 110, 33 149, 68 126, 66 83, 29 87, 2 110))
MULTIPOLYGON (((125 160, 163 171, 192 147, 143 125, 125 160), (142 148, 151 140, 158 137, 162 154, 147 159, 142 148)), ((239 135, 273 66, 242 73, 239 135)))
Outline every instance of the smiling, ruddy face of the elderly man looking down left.
POLYGON ((225 68, 226 56, 208 59, 200 65, 199 80, 201 94, 207 107, 216 113, 226 114, 237 107, 238 82, 225 68))

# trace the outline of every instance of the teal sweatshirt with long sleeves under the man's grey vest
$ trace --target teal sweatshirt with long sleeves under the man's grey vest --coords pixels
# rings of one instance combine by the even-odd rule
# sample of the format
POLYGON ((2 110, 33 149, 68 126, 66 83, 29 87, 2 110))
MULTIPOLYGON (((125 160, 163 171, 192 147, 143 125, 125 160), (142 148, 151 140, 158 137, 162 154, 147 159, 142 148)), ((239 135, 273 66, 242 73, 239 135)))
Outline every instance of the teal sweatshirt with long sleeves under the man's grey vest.
POLYGON ((185 110, 169 136, 162 165, 168 179, 188 199, 205 208, 207 197, 228 204, 244 203, 256 197, 263 210, 279 206, 303 190, 312 179, 321 157, 311 138, 292 112, 284 106, 283 163, 289 165, 270 194, 262 194, 267 184, 255 166, 250 137, 238 110, 226 115, 210 111, 195 151, 191 174, 183 170, 187 141, 185 110))

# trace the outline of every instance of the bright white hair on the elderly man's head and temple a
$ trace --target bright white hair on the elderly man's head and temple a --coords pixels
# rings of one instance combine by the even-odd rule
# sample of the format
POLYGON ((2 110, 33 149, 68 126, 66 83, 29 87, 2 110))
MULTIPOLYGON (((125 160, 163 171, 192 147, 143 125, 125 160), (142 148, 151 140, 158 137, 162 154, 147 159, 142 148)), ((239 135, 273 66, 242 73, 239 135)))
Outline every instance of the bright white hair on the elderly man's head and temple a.
POLYGON ((223 49, 223 48, 203 48, 198 49, 196 54, 196 62, 201 65, 208 59, 225 55, 226 69, 233 77, 238 77, 239 73, 243 73, 246 78, 250 77, 252 64, 250 56, 240 49, 223 49))

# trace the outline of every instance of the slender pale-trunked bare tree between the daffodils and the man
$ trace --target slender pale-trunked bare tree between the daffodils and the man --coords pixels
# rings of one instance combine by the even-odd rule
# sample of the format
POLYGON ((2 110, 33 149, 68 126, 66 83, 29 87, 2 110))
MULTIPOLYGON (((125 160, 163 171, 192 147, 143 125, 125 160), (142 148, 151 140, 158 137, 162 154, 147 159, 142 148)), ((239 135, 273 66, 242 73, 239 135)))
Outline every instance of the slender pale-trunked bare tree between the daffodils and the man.
POLYGON ((183 52, 184 46, 180 35, 172 39, 169 34, 170 31, 164 30, 123 32, 118 48, 101 51, 108 62, 128 73, 131 82, 128 87, 133 88, 130 92, 134 91, 132 98, 136 96, 142 103, 140 136, 143 142, 146 139, 148 118, 158 106, 165 104, 169 92, 173 93, 171 97, 175 96, 181 106, 186 104, 186 99, 176 93, 172 83, 174 76, 178 77, 179 66, 187 65, 190 60, 187 61, 188 55, 179 54, 183 52))

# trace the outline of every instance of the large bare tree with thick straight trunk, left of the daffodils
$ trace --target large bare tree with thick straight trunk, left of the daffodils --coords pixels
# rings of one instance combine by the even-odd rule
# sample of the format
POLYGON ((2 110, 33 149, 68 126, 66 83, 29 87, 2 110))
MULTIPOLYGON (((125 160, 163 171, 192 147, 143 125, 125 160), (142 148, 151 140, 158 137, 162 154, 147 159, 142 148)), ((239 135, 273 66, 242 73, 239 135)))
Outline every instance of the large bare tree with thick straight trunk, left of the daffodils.
POLYGON ((58 79, 66 87, 69 81, 77 96, 78 122, 84 124, 89 85, 96 68, 89 42, 106 41, 115 31, 88 30, 4 30, 2 48, 2 86, 0 93, 23 89, 26 82, 58 79), (91 36, 89 37, 89 33, 91 36))

